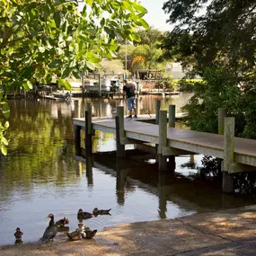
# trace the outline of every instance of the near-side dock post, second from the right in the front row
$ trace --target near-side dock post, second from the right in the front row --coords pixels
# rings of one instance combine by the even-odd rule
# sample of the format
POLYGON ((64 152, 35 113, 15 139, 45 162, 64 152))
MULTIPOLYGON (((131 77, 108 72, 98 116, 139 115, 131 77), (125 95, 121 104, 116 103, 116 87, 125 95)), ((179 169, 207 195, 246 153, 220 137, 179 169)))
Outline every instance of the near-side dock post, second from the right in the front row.
POLYGON ((167 145, 167 111, 159 111, 159 145, 158 145, 158 169, 167 171, 167 157, 163 155, 163 146, 167 145))

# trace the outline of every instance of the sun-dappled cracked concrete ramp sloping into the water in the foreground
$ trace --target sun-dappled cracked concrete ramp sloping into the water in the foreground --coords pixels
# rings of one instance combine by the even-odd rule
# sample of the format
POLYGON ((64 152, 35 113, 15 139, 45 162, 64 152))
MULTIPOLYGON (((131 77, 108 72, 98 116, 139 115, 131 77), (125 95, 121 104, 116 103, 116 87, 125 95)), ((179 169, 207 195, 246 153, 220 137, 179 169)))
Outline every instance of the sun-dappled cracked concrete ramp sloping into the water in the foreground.
MULTIPOLYGON (((92 240, 0 247, 1 256, 256 255, 256 206, 176 219, 116 225, 92 240)), ((25 237, 25 234, 23 235, 25 237)), ((13 237, 14 238, 14 237, 13 237)))

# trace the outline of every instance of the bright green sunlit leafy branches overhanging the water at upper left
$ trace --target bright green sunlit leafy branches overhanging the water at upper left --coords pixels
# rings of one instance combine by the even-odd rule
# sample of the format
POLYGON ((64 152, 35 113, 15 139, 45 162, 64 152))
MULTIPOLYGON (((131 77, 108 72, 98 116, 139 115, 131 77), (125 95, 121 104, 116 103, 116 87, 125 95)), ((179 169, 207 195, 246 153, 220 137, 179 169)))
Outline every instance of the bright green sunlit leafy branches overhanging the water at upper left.
MULTIPOLYGON (((35 80, 59 83, 69 75, 80 78, 99 66, 102 57, 115 57, 117 35, 137 40, 137 27, 148 28, 142 18, 146 9, 132 0, 0 0, 0 85, 6 90, 29 90, 35 80)), ((1 96, 1 94, 0 94, 1 96)), ((2 111, 7 103, 0 97, 2 111)), ((8 124, 0 126, 1 151, 8 124), (1 132, 1 130, 3 132, 1 132)))

